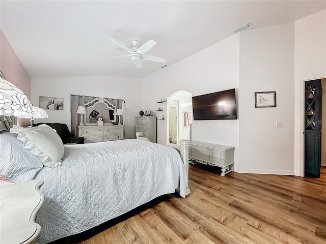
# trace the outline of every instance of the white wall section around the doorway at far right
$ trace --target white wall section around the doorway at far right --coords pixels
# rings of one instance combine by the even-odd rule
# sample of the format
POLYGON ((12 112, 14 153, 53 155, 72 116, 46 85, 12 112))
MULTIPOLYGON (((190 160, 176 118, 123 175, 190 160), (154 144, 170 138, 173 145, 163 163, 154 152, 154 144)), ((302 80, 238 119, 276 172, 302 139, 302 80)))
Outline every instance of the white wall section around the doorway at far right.
POLYGON ((294 22, 294 172, 304 176, 304 81, 326 77, 326 10, 294 22))

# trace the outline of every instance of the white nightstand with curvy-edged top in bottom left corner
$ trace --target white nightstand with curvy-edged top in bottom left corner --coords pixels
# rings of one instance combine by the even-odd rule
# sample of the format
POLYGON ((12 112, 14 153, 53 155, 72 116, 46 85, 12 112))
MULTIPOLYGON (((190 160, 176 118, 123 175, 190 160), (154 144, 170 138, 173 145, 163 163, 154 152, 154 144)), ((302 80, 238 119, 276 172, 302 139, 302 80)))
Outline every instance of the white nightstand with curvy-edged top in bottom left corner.
POLYGON ((44 197, 43 181, 33 179, 0 187, 0 243, 35 243, 41 226, 35 223, 44 197))

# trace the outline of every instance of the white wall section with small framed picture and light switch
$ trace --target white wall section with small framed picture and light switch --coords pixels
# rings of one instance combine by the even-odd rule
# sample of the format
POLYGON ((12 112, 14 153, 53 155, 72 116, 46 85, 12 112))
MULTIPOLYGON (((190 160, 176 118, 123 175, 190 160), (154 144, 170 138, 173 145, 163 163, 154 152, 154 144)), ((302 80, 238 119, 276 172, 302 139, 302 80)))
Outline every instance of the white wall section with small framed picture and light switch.
POLYGON ((240 34, 239 172, 293 175, 293 46, 293 23, 240 34), (270 91, 277 106, 255 108, 254 93, 270 91))

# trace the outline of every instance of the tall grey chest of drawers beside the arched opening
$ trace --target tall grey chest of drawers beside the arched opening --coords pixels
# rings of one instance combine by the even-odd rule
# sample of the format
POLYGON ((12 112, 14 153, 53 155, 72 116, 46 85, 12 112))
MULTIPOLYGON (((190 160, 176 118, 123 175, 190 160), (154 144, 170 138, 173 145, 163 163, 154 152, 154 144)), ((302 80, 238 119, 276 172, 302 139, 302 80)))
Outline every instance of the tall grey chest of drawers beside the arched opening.
POLYGON ((151 142, 156 143, 156 116, 142 116, 136 118, 136 133, 143 132, 151 142))

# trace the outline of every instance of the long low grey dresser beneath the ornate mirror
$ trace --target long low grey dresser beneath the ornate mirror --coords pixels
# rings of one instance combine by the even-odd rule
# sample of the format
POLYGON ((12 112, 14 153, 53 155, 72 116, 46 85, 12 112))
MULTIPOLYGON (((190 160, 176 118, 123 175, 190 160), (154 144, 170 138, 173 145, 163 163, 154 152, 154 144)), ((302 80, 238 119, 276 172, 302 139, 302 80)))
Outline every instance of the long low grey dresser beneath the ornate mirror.
POLYGON ((85 138, 85 142, 100 142, 122 140, 124 138, 123 125, 121 126, 77 126, 78 136, 85 138))

